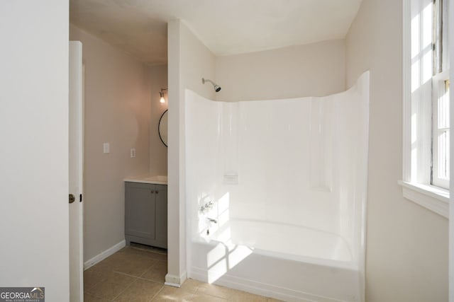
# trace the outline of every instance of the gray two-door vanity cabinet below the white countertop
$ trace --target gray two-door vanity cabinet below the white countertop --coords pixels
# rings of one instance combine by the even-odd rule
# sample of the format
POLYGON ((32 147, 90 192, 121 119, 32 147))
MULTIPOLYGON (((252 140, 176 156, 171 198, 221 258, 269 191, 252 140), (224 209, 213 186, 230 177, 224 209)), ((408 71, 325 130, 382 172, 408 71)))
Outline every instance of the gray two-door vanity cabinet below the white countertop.
POLYGON ((126 244, 167 248, 167 185, 125 184, 126 244))

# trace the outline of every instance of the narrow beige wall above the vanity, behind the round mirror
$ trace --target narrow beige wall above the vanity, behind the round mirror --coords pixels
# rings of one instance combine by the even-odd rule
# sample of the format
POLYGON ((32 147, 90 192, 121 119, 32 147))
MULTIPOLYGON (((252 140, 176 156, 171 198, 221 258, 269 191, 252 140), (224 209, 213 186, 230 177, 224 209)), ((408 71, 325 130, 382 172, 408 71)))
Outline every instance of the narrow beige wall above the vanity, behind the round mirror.
POLYGON ((167 147, 162 144, 157 127, 162 113, 167 110, 167 91, 164 104, 160 103, 159 92, 167 88, 167 65, 149 68, 150 79, 150 175, 167 175, 167 147))

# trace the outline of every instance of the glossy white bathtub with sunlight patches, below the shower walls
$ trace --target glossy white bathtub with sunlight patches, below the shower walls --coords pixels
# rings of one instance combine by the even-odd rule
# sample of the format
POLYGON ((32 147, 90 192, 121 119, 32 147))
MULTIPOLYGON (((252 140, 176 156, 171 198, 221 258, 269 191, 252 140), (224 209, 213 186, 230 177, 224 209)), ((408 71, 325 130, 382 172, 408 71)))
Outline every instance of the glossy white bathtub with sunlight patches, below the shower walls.
POLYGON ((203 230, 192 240, 190 258, 188 276, 201 281, 284 301, 360 301, 359 269, 336 234, 265 221, 212 223, 209 236, 203 230))

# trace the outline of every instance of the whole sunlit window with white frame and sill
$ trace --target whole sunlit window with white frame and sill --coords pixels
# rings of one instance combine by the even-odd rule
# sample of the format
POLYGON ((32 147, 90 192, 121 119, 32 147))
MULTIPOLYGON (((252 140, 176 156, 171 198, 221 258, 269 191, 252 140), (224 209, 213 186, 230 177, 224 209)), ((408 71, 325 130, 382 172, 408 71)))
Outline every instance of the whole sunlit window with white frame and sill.
POLYGON ((404 0, 404 197, 448 217, 448 0, 404 0))

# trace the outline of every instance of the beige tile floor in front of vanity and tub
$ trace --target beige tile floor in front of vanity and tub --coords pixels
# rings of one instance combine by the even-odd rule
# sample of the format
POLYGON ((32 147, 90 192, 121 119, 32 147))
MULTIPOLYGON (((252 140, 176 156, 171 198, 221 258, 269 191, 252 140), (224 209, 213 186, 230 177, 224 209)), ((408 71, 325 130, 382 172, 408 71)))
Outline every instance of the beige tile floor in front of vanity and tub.
POLYGON ((193 279, 177 289, 164 285, 166 273, 167 255, 159 250, 123 248, 84 272, 84 302, 278 301, 193 279))

